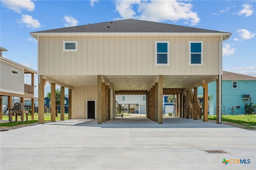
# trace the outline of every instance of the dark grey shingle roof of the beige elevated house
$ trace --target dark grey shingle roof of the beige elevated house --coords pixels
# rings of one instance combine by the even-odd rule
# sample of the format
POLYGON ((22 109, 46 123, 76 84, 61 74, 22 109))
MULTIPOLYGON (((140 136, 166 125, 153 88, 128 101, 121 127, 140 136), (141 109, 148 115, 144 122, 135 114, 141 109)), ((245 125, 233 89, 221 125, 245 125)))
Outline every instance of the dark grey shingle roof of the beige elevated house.
POLYGON ((118 20, 74 27, 64 27, 33 33, 225 33, 209 29, 186 27, 143 20, 118 20))

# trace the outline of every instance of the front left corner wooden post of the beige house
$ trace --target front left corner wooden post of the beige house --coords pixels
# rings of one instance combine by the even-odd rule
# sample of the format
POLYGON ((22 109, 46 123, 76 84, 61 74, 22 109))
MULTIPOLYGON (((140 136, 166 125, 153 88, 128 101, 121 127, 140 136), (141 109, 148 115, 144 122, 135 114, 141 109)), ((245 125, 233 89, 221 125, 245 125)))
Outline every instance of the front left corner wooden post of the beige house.
POLYGON ((46 80, 38 75, 38 124, 44 124, 44 86, 46 80))

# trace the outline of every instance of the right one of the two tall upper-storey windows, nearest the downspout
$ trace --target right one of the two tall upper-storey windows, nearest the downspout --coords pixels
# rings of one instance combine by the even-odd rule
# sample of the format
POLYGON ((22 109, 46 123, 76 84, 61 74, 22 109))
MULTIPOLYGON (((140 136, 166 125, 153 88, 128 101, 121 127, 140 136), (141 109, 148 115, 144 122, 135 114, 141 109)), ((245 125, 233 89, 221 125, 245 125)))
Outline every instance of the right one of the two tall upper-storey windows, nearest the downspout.
POLYGON ((203 65, 203 41, 189 41, 189 65, 203 65))

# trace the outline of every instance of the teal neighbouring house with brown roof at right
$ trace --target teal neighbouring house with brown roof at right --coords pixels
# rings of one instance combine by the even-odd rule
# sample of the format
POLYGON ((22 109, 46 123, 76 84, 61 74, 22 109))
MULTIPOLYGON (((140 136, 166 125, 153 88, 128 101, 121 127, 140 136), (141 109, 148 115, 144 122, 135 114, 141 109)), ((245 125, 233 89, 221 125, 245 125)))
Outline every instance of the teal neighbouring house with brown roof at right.
MULTIPOLYGON (((202 97, 198 88, 198 98, 202 97)), ((209 115, 216 115, 216 81, 208 86, 209 115)), ((222 114, 244 114, 245 104, 256 103, 256 77, 223 71, 222 114)))

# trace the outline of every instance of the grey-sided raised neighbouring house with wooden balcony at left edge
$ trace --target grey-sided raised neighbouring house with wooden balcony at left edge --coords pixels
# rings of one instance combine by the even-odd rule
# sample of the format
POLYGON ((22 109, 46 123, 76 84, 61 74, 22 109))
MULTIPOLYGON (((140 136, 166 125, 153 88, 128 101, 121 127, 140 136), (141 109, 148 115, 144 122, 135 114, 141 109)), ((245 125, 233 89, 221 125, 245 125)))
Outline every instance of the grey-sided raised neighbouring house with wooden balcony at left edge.
MULTIPOLYGON (((12 109, 14 103, 19 102, 18 99, 13 100, 13 97, 21 98, 21 103, 24 103, 24 98, 31 98, 34 105, 34 74, 37 72, 2 57, 2 51, 7 51, 6 49, 0 47, 0 51, 0 115, 2 119, 2 114, 12 109), (31 75, 31 84, 24 83, 25 74, 31 75)), ((34 113, 34 108, 32 112, 34 113)))

